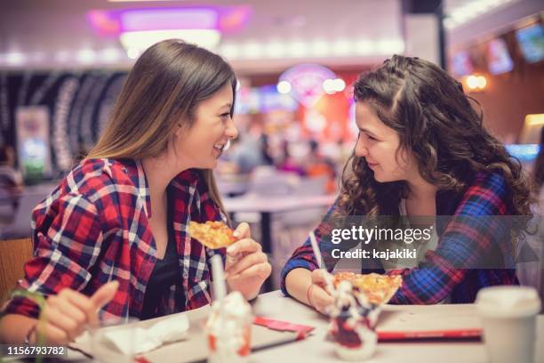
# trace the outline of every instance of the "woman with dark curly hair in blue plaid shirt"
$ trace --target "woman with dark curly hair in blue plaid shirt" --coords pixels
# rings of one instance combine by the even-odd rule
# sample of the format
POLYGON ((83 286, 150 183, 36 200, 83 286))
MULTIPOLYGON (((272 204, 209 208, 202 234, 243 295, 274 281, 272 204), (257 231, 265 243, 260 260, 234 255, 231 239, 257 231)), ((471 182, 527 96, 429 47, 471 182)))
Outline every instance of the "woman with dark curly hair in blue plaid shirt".
MULTIPOLYGON (((529 185, 462 86, 431 62, 395 55, 363 74, 354 92, 359 135, 340 197, 316 229, 321 248, 330 242, 332 215, 468 217, 436 230, 436 248, 413 268, 372 266, 402 275, 391 303, 471 303, 484 286, 517 284, 516 270, 506 268, 512 265, 478 268, 486 256, 507 258, 512 245, 497 242, 511 230, 477 217, 531 214, 529 185)), ((516 221, 513 228, 523 229, 524 219, 516 221)), ((363 261, 363 272, 370 267, 363 261)), ((332 298, 316 268, 307 241, 285 264, 282 290, 324 311, 332 298)))

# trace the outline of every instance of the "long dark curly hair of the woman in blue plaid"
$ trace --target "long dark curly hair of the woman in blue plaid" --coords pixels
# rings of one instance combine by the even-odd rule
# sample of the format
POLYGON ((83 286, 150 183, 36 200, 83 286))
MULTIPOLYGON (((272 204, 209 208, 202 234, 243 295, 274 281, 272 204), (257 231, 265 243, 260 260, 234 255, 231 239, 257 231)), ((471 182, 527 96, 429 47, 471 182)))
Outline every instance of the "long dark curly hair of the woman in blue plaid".
MULTIPOLYGON (((433 63, 394 55, 354 85, 356 101, 371 105, 380 120, 411 150, 421 176, 438 190, 462 192, 476 173, 503 175, 510 188, 512 215, 530 215, 532 197, 521 163, 482 124, 477 101, 433 63), (479 113, 472 108, 475 101, 479 113)), ((378 182, 355 150, 340 180, 340 213, 390 215, 406 197, 404 181, 378 182)))

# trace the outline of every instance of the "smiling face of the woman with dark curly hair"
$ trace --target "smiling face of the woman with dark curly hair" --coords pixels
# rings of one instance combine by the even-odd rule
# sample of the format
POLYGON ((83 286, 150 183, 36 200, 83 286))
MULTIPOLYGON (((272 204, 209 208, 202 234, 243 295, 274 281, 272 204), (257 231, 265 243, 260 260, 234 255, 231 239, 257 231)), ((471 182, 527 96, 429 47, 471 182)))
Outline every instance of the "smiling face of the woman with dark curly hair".
POLYGON ((385 125, 368 102, 356 102, 356 124, 359 129, 355 154, 364 157, 380 182, 405 181, 412 171, 409 153, 399 150, 400 138, 385 125), (398 150, 398 152, 397 152, 398 150))

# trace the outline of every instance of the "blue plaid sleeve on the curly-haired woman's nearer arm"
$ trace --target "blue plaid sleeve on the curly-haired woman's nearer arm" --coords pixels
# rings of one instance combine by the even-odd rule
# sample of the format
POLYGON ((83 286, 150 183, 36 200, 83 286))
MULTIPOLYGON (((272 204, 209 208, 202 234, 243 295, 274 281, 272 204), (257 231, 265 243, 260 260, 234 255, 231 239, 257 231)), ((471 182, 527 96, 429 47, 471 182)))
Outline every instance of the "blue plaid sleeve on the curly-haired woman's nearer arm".
POLYGON ((403 286, 389 303, 444 301, 471 269, 483 266, 486 257, 500 249, 498 244, 509 239, 506 225, 497 218, 483 217, 505 214, 507 198, 508 188, 499 174, 476 179, 446 226, 436 251, 428 251, 417 268, 388 271, 389 275, 403 277, 403 286))

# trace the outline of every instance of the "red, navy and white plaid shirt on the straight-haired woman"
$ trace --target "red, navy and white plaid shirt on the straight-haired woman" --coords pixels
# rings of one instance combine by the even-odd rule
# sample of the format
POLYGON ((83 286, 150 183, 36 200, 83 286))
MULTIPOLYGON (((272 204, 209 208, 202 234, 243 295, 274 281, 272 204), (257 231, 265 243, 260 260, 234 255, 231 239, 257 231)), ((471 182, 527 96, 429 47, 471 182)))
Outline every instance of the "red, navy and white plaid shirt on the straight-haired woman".
MULTIPOLYGON (((189 221, 224 219, 197 170, 180 173, 168 188, 175 196, 173 229, 182 276, 179 286, 172 286, 162 297, 161 315, 210 303, 212 252, 188 236, 187 226, 189 221), (185 297, 184 304, 176 299, 178 293, 185 297)), ((46 296, 64 287, 92 295, 108 281, 117 280, 119 289, 100 315, 140 317, 156 262, 148 217, 149 190, 140 161, 84 160, 36 206, 32 218, 35 257, 25 265, 26 276, 19 286, 46 296)), ((224 249, 219 253, 224 255, 224 249)), ((39 311, 28 298, 15 297, 4 313, 36 318, 39 311)))

